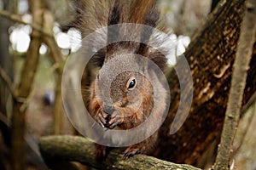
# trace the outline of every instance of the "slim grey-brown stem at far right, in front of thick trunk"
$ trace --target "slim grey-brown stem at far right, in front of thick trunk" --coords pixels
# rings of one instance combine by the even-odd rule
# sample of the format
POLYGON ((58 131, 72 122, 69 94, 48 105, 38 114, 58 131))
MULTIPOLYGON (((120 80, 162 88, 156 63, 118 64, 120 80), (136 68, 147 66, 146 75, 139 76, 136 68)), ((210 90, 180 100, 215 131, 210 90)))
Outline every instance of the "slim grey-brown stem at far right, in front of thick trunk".
POLYGON ((252 57, 253 42, 256 35, 256 1, 248 0, 246 9, 241 24, 230 96, 214 169, 230 169, 230 156, 233 152, 232 146, 241 112, 241 99, 246 85, 247 70, 252 57))

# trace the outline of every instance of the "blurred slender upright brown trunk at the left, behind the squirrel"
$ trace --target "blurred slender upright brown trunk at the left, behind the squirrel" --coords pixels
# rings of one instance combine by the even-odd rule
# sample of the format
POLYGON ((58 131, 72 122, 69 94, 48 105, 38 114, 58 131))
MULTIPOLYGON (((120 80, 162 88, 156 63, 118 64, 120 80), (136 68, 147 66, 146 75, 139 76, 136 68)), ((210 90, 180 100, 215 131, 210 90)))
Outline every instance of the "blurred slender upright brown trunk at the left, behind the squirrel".
MULTIPOLYGON (((33 15, 33 23, 42 26, 44 4, 39 0, 30 2, 33 15)), ((16 90, 17 99, 15 99, 14 115, 12 122, 12 169, 25 169, 25 130, 26 130, 26 99, 32 89, 32 82, 37 70, 39 48, 41 40, 38 31, 32 31, 31 42, 26 54, 26 63, 24 65, 21 82, 16 90)))

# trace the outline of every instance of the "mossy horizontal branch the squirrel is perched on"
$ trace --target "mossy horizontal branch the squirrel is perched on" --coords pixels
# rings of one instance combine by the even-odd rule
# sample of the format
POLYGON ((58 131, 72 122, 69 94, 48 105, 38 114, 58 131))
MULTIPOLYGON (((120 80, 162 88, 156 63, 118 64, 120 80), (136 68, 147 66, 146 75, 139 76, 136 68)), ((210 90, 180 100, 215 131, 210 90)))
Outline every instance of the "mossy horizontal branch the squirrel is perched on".
MULTIPOLYGON (((40 150, 44 160, 50 168, 67 161, 79 161, 90 167, 99 169, 183 169, 199 170, 189 165, 178 165, 168 161, 161 161, 151 156, 134 156, 128 160, 122 158, 121 153, 110 151, 105 161, 96 161, 94 144, 87 139, 75 136, 49 136, 40 140, 40 150)), ((63 164, 67 165, 67 163, 63 164)), ((71 165, 68 165, 71 166, 71 165)), ((57 167, 55 169, 64 169, 57 167)), ((67 169, 65 167, 65 169, 67 169)))

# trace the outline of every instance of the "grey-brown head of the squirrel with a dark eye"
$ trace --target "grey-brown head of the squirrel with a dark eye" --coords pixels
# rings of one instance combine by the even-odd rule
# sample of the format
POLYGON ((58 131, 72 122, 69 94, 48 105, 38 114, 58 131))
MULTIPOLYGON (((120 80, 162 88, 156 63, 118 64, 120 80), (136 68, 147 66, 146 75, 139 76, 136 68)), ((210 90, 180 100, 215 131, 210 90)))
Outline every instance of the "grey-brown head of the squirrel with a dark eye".
POLYGON ((96 76, 99 104, 103 108, 118 109, 132 105, 138 109, 145 98, 153 95, 146 61, 135 54, 119 54, 108 60, 96 76))

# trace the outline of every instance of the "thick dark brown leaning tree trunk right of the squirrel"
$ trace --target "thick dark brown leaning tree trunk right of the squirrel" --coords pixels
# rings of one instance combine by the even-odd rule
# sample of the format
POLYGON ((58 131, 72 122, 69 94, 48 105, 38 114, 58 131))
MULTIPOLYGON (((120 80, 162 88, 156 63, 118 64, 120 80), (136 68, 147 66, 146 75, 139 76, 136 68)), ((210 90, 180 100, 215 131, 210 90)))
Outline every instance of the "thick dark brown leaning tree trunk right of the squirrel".
MULTIPOLYGON (((175 71, 169 74, 172 102, 169 115, 161 128, 160 144, 154 156, 195 165, 221 132, 244 6, 244 0, 221 1, 205 26, 192 38, 184 55, 193 77, 193 102, 186 122, 173 135, 169 131, 177 111, 180 89, 175 71)), ((254 42, 242 105, 256 91, 255 48, 254 42)), ((182 69, 183 65, 178 62, 177 68, 179 67, 182 69)), ((188 72, 184 70, 183 75, 186 74, 188 72)))

